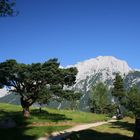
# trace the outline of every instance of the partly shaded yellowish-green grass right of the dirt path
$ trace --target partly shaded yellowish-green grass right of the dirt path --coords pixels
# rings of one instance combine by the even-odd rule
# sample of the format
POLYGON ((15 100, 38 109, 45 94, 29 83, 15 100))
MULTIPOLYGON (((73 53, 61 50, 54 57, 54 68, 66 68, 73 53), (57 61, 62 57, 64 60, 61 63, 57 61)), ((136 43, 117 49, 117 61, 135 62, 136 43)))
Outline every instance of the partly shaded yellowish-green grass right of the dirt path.
POLYGON ((101 125, 91 129, 72 133, 69 140, 132 140, 134 119, 123 120, 101 125))

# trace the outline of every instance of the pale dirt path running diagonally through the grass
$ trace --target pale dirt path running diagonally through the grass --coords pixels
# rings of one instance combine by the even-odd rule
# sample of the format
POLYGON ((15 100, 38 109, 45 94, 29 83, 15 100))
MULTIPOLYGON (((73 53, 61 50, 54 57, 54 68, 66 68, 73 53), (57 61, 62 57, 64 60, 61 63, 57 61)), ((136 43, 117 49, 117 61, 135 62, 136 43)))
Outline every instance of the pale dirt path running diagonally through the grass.
POLYGON ((64 131, 53 132, 51 134, 51 136, 42 137, 42 138, 39 138, 38 140, 61 140, 62 138, 68 136, 72 132, 77 132, 80 130, 85 130, 85 129, 89 129, 91 127, 96 127, 96 126, 100 126, 103 124, 107 124, 110 122, 116 122, 116 121, 117 120, 109 120, 109 121, 104 121, 104 122, 96 122, 96 123, 90 123, 90 124, 77 125, 77 126, 74 126, 72 128, 66 129, 64 131))

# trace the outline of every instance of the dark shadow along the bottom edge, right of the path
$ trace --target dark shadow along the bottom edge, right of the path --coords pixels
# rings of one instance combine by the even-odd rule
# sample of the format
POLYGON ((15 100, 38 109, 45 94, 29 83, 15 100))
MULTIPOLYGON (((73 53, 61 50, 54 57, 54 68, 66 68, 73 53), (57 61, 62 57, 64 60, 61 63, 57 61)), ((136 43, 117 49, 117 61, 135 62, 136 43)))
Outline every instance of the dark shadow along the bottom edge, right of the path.
MULTIPOLYGON (((57 139, 54 138, 52 140, 57 139)), ((79 132, 73 132, 62 140, 132 140, 132 138, 125 136, 125 134, 121 135, 117 133, 101 133, 92 129, 87 129, 79 132)))

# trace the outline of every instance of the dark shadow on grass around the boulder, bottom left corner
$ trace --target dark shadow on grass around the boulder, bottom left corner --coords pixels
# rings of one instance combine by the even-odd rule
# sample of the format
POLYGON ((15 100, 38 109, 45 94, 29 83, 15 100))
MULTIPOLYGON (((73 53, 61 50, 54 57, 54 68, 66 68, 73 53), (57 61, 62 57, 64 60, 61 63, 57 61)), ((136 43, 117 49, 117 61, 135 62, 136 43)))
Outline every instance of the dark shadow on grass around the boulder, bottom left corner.
POLYGON ((6 118, 10 118, 16 122, 14 128, 0 128, 1 140, 35 140, 36 136, 26 135, 25 132, 31 127, 26 127, 28 122, 23 117, 22 112, 6 112, 0 111, 0 121, 6 118))

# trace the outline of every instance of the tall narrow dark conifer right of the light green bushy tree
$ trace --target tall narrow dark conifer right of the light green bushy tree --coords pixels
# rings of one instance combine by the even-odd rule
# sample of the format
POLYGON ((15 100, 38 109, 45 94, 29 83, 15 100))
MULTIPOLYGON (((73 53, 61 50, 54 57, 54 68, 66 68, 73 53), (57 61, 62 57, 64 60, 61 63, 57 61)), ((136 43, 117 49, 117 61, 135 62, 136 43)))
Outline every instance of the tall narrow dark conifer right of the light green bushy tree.
POLYGON ((112 89, 112 96, 114 97, 114 102, 117 108, 117 116, 122 116, 122 104, 125 98, 124 82, 123 78, 119 73, 116 74, 112 89))

